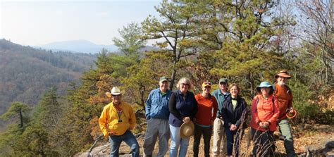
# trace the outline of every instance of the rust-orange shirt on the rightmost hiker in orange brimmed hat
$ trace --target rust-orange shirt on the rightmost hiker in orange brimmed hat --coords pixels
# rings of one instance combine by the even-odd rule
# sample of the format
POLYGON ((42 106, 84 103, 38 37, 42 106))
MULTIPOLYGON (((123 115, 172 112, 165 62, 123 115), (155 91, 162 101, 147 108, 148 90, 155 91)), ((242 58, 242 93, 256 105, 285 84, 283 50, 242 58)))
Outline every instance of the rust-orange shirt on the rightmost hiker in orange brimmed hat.
POLYGON ((281 119, 285 116, 287 108, 292 108, 292 92, 286 85, 280 86, 275 84, 274 95, 278 100, 278 108, 280 109, 278 119, 281 119))

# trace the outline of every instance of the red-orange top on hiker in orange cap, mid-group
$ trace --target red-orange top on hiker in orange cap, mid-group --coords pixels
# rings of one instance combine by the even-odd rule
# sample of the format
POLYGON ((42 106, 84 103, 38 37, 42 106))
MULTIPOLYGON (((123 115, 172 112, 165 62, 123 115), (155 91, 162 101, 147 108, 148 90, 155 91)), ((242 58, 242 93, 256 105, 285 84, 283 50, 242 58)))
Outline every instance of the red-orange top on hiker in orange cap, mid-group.
POLYGON ((214 96, 204 98, 202 94, 195 96, 198 111, 195 115, 196 122, 199 125, 212 125, 211 122, 216 118, 218 103, 214 96), (214 110, 214 111, 212 111, 214 110))

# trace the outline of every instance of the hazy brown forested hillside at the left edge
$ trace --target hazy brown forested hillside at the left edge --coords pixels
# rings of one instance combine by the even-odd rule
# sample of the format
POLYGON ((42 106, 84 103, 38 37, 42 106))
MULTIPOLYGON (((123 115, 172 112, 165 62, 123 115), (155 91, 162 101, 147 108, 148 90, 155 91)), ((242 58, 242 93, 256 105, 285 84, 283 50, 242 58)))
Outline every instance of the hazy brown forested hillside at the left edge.
POLYGON ((96 56, 52 52, 0 40, 0 115, 12 101, 35 106, 49 87, 63 95, 69 82, 94 65, 96 56))

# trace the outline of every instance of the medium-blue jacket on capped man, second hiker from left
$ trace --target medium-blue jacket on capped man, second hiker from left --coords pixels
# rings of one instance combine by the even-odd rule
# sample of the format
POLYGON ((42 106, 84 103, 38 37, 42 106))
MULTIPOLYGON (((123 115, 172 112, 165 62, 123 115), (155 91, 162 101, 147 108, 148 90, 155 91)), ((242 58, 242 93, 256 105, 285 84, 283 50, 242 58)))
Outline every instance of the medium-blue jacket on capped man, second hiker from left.
POLYGON ((153 89, 149 93, 145 106, 145 116, 147 120, 151 118, 168 120, 168 101, 171 93, 170 90, 167 90, 166 93, 163 94, 159 88, 153 89))

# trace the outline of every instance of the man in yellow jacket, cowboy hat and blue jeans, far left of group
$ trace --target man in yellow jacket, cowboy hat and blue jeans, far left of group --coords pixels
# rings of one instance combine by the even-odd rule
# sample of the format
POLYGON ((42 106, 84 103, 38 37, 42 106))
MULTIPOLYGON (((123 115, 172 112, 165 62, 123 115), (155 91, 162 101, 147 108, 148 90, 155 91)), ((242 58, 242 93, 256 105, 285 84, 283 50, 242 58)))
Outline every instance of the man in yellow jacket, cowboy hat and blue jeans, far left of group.
POLYGON ((140 156, 140 146, 130 130, 135 127, 136 117, 132 107, 123 101, 118 87, 113 87, 106 95, 113 100, 104 109, 99 118, 100 129, 104 136, 109 136, 110 156, 118 156, 121 142, 131 147, 132 156, 140 156))

